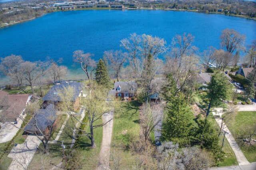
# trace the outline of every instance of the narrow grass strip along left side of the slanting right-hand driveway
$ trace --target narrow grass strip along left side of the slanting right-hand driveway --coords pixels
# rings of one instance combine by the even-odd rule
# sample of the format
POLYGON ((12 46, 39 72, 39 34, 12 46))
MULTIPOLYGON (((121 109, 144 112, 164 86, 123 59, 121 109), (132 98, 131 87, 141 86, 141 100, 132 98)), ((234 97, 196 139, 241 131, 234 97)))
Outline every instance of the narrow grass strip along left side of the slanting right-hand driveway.
MULTIPOLYGON (((210 113, 209 116, 212 116, 212 113, 210 113)), ((212 123, 212 125, 214 126, 214 128, 216 129, 216 133, 219 132, 220 127, 218 125, 218 123, 216 122, 216 120, 212 117, 209 117, 210 122, 212 123)), ((220 145, 222 145, 222 140, 223 140, 223 135, 220 135, 220 145)), ((223 152, 224 154, 224 161, 223 162, 218 162, 218 166, 231 166, 231 165, 238 165, 238 162, 236 160, 236 156, 232 150, 232 148, 230 147, 227 139, 224 139, 224 145, 223 145, 223 152)))

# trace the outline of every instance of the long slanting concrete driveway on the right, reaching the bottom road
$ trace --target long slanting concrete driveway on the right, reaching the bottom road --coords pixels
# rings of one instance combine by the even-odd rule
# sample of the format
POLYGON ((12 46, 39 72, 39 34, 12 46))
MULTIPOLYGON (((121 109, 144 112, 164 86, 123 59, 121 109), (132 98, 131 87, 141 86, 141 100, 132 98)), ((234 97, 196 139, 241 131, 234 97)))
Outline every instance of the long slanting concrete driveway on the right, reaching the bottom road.
MULTIPOLYGON (((223 113, 221 112, 223 110, 223 108, 215 108, 214 110, 216 110, 217 112, 212 111, 213 115, 222 115, 223 113)), ((218 125, 221 127, 221 119, 215 119, 218 123, 218 125)), ((223 123, 222 125, 224 128, 224 130, 226 132, 228 132, 229 134, 226 135, 226 139, 228 140, 228 143, 230 144, 230 147, 232 148, 232 150, 234 151, 235 155, 236 155, 236 159, 238 161, 238 165, 246 165, 246 164, 250 164, 248 162, 248 160, 246 159, 246 157, 244 156, 242 150, 240 149, 240 147, 237 145, 234 137, 232 136, 232 134, 230 133, 228 127, 225 125, 225 123, 223 123)))

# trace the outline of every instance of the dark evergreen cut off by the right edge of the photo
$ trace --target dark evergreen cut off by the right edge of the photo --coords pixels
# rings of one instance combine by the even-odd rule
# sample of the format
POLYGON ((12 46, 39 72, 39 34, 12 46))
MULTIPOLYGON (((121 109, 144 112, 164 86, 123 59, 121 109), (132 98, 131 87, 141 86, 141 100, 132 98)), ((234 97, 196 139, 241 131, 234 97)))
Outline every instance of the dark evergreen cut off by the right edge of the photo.
POLYGON ((252 72, 249 72, 246 78, 246 97, 247 98, 254 98, 256 95, 256 69, 254 68, 252 72))

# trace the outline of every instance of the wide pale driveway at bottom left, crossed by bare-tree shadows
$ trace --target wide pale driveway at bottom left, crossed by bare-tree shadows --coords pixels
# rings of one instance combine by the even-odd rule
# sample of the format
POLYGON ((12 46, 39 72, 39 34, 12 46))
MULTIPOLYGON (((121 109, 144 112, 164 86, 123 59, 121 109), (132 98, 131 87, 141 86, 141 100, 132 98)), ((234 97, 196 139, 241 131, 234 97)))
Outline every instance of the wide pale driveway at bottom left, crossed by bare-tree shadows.
POLYGON ((40 143, 41 141, 38 137, 28 135, 24 143, 13 147, 10 154, 8 154, 8 157, 12 158, 12 163, 8 170, 27 169, 40 143))

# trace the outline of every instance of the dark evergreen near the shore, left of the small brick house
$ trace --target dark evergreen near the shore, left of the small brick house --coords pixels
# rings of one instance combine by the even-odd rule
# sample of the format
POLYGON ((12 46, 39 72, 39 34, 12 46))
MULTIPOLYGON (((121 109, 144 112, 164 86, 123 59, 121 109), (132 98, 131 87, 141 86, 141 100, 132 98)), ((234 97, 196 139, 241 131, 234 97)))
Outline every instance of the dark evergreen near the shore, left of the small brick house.
POLYGON ((95 80, 99 85, 106 88, 110 86, 110 78, 108 76, 108 68, 102 59, 99 60, 95 72, 95 80))

